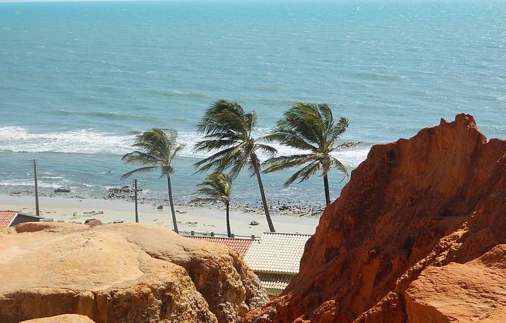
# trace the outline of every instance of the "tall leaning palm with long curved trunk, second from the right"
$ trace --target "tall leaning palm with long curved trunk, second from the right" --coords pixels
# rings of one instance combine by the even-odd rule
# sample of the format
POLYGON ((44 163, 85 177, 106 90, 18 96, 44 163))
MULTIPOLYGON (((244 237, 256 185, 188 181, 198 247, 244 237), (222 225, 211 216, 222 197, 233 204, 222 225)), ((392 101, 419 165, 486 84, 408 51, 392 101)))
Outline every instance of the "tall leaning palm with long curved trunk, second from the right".
POLYGON ((205 134, 204 140, 195 145, 195 151, 212 152, 218 150, 210 157, 195 163, 198 171, 214 170, 216 173, 230 171, 232 178, 238 176, 240 171, 248 166, 251 175, 257 176, 260 195, 267 218, 269 230, 275 232, 269 215, 264 184, 261 180, 261 164, 258 152, 265 152, 273 156, 276 150, 264 143, 262 138, 252 137, 252 131, 257 125, 257 113, 245 112, 238 103, 219 100, 207 108, 200 124, 197 125, 199 133, 205 134))

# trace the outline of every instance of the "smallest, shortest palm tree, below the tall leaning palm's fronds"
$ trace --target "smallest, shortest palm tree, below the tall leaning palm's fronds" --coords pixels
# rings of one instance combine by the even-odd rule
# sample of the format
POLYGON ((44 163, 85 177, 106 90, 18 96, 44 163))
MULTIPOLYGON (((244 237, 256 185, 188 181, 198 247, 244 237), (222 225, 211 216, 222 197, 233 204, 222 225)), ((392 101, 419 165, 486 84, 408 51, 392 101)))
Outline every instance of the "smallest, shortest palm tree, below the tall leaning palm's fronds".
POLYGON ((197 185, 202 187, 195 195, 203 195, 205 197, 197 197, 192 199, 192 202, 223 202, 226 206, 226 225, 227 236, 231 237, 230 228, 230 202, 232 194, 232 179, 230 176, 223 173, 213 173, 206 176, 205 180, 197 185))

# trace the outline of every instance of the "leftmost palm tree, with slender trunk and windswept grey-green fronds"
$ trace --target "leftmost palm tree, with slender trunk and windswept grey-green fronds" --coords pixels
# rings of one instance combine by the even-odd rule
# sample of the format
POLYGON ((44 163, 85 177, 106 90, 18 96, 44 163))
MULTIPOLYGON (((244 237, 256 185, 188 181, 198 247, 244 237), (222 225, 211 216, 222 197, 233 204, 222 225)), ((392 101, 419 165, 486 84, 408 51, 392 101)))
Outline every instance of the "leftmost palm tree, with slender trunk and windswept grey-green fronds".
POLYGON ((173 129, 152 128, 139 134, 132 147, 134 147, 134 152, 125 154, 122 160, 127 164, 138 164, 142 165, 142 167, 129 171, 122 178, 127 178, 133 173, 147 173, 160 169, 160 178, 167 177, 172 223, 174 223, 174 231, 179 233, 171 185, 171 174, 174 173, 174 167, 171 166, 171 163, 178 152, 183 149, 183 146, 177 142, 177 131, 173 129))

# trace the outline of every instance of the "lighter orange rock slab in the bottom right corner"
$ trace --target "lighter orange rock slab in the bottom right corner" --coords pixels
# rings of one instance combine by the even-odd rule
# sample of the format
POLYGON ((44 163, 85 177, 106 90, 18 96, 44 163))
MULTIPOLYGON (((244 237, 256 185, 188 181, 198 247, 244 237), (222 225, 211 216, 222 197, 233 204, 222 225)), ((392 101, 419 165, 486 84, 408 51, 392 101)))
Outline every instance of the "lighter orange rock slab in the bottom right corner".
POLYGON ((413 323, 506 322, 506 244, 467 263, 429 266, 405 295, 413 323))

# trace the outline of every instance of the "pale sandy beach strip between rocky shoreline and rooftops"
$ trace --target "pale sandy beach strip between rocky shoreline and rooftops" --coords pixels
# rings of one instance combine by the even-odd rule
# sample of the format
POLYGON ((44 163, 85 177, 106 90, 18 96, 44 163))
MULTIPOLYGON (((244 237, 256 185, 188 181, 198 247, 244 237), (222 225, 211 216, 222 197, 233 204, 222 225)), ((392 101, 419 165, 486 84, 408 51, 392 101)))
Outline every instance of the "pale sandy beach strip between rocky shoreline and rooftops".
MULTIPOLYGON (((115 221, 135 222, 134 203, 107 199, 70 199, 65 197, 40 197, 40 216, 63 220, 65 222, 84 223, 86 219, 96 218, 102 223, 115 221), (102 213, 103 212, 103 213, 102 213)), ((0 209, 35 213, 34 197, 0 195, 0 209)), ((172 228, 169 207, 162 210, 150 204, 138 205, 139 221, 172 228)), ((216 232, 226 234, 225 212, 219 209, 192 208, 176 206, 179 230, 190 232, 216 232)), ((313 234, 319 218, 292 216, 272 216, 277 232, 300 232, 313 234)), ((268 231, 265 216, 257 213, 231 212, 231 228, 235 235, 261 235, 268 231), (249 225, 257 221, 259 225, 249 225)))

